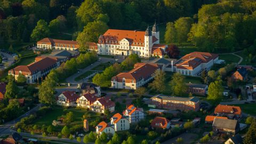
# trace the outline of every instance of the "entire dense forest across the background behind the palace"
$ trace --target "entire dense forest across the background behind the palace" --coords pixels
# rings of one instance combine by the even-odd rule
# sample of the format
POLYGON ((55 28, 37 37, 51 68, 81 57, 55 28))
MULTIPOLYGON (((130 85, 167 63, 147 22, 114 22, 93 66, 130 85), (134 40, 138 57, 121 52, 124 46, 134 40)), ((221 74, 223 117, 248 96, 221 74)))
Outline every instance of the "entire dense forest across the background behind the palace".
POLYGON ((0 44, 68 31, 85 47, 108 28, 145 30, 157 21, 166 23, 166 43, 255 53, 255 10, 254 0, 0 0, 0 44))

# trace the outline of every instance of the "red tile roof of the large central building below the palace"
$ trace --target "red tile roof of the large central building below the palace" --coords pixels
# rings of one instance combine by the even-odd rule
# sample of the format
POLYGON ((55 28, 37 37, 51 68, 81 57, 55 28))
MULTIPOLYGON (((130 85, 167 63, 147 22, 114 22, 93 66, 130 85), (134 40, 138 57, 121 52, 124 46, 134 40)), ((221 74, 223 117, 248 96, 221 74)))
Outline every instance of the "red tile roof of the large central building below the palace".
POLYGON ((123 82, 123 78, 125 78, 126 83, 131 83, 132 80, 136 83, 142 77, 150 77, 158 68, 159 66, 156 63, 135 63, 134 69, 127 73, 119 73, 112 77, 111 81, 115 79, 117 82, 123 82))

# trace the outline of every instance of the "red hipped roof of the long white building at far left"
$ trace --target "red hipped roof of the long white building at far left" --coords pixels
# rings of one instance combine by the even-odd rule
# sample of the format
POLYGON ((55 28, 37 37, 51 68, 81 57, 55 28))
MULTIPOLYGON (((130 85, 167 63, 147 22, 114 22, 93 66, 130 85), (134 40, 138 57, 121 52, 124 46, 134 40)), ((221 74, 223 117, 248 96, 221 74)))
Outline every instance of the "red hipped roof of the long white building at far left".
POLYGON ((9 70, 9 73, 12 72, 13 74, 18 75, 19 71, 21 71, 22 75, 28 75, 28 74, 33 75, 37 71, 43 71, 43 70, 46 70, 47 68, 52 67, 53 65, 55 65, 56 62, 57 60, 46 57, 42 60, 33 62, 27 66, 15 67, 14 69, 9 70))

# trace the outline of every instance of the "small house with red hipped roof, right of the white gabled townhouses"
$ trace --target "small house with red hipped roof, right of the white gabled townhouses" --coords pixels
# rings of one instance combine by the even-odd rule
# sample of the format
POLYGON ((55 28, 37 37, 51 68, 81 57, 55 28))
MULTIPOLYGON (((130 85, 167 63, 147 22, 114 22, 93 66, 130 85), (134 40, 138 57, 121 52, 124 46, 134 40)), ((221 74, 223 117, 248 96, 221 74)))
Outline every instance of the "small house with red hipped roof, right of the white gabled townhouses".
POLYGON ((152 129, 169 129, 171 127, 170 120, 165 117, 155 117, 150 125, 152 129))

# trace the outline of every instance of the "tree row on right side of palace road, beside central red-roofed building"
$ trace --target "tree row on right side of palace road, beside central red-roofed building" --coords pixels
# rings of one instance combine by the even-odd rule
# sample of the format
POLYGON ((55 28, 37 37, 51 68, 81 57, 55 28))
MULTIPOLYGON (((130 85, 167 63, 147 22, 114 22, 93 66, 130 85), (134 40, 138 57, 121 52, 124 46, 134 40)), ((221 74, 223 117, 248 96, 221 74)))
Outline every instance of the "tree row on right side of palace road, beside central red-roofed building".
POLYGON ((102 87, 109 87, 111 86, 110 80, 113 76, 122 71, 131 70, 137 62, 140 62, 139 56, 137 54, 131 54, 121 64, 115 63, 114 65, 107 67, 103 73, 96 74, 92 78, 92 82, 102 87))

